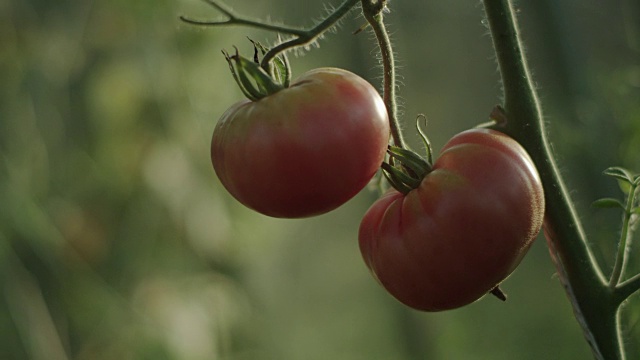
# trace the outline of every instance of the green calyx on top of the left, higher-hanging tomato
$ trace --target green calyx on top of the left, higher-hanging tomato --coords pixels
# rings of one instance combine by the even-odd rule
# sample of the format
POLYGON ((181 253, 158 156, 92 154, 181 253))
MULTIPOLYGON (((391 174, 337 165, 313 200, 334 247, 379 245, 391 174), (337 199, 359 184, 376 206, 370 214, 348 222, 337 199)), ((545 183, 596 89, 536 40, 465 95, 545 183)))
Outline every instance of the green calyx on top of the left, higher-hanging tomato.
POLYGON ((264 56, 268 49, 257 41, 249 39, 253 43, 253 61, 238 53, 230 55, 222 51, 229 63, 231 75, 240 87, 242 93, 251 101, 258 101, 264 97, 275 94, 289 87, 291 70, 286 55, 278 55, 266 65, 266 69, 260 66, 260 55, 264 56))

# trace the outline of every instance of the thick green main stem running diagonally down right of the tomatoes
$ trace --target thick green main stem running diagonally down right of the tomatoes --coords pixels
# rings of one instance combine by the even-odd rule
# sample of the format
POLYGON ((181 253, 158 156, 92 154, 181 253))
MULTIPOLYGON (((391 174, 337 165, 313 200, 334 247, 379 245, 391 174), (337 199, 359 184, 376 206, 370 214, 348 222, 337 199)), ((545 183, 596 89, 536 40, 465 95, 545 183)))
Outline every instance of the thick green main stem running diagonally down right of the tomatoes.
POLYGON ((504 86, 508 122, 501 129, 531 155, 545 189, 545 235, 567 295, 593 353, 600 359, 624 359, 613 300, 596 263, 546 138, 510 0, 484 0, 504 86))

